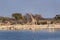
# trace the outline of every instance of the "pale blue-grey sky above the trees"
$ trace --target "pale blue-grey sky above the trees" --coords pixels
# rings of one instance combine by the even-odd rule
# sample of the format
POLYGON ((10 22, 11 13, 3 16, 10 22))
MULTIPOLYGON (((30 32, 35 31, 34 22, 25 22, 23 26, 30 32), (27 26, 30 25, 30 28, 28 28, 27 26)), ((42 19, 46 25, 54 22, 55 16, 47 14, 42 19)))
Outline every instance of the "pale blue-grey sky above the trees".
POLYGON ((60 14, 60 0, 0 0, 0 16, 12 13, 39 13, 45 18, 60 14))

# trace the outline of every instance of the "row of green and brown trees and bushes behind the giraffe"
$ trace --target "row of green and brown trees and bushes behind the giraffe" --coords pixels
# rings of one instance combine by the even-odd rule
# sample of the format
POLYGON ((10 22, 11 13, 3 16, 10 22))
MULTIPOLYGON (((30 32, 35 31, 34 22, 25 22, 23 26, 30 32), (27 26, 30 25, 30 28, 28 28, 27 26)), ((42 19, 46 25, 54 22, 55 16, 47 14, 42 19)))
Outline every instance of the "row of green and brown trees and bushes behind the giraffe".
MULTIPOLYGON (((31 19, 31 16, 29 15, 31 14, 31 16, 36 19, 37 21, 39 20, 44 20, 45 18, 42 17, 41 14, 32 14, 32 13, 26 13, 25 15, 22 15, 22 13, 13 13, 11 16, 12 18, 10 17, 3 17, 3 16, 0 16, 0 22, 6 22, 6 21, 9 21, 9 22, 18 22, 18 23, 27 23, 28 21, 31 22, 32 19, 31 19)), ((60 20, 60 14, 57 14, 55 17, 51 18, 51 19, 54 19, 54 20, 60 20)))

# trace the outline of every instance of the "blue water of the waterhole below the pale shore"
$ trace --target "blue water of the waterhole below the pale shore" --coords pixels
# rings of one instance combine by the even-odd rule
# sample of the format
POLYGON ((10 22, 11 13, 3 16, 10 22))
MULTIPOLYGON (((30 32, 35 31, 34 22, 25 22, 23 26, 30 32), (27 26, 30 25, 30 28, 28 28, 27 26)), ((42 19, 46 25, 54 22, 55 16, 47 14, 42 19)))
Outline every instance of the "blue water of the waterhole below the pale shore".
POLYGON ((1 30, 0 40, 60 40, 60 31, 1 30))

